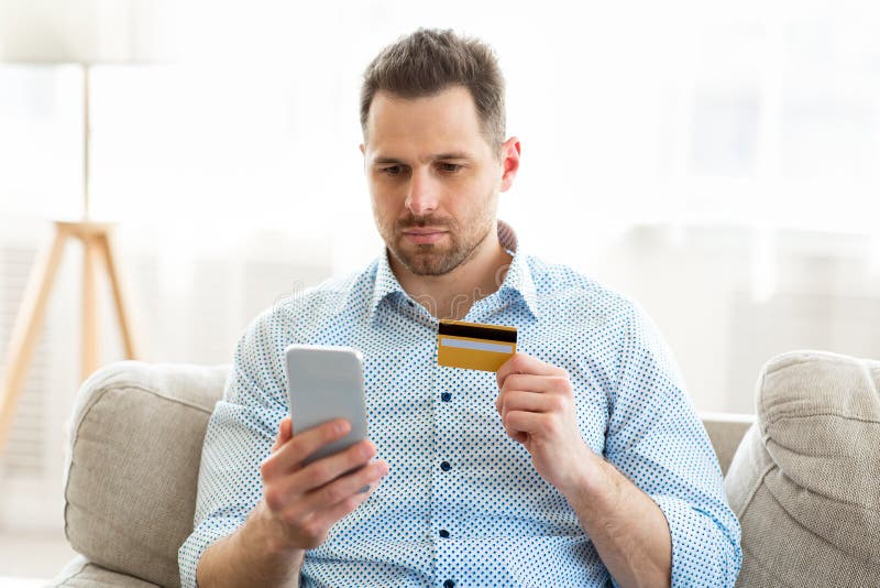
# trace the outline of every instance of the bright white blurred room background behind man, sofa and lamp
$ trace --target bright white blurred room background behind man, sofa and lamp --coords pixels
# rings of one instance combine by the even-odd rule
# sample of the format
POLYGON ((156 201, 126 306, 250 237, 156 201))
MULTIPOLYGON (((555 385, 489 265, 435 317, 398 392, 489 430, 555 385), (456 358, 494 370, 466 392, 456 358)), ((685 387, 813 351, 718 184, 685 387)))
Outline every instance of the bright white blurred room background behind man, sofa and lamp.
MULTIPOLYGON (((697 409, 752 412, 758 370, 781 351, 880 357, 875 7, 182 2, 176 62, 92 74, 92 210, 121 222, 145 359, 229 362, 262 308, 381 251, 360 79, 418 26, 495 47, 522 143, 501 218, 531 253, 638 300, 697 409)), ((3 352, 46 220, 80 213, 80 110, 76 67, 0 66, 3 352)), ((68 251, 0 458, 10 532, 61 534, 79 277, 68 251)))

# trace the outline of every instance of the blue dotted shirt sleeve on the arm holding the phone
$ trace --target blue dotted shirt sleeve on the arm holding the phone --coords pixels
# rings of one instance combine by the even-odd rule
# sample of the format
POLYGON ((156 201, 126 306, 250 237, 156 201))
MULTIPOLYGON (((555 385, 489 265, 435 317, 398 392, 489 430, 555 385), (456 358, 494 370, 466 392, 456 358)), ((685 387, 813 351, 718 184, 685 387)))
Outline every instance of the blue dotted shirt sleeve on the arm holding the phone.
POLYGON ((223 399, 208 422, 195 529, 178 551, 184 588, 196 586, 205 549, 238 530, 263 496, 260 466, 287 414, 286 386, 277 375, 284 370, 272 340, 277 330, 267 313, 248 327, 235 348, 223 399))

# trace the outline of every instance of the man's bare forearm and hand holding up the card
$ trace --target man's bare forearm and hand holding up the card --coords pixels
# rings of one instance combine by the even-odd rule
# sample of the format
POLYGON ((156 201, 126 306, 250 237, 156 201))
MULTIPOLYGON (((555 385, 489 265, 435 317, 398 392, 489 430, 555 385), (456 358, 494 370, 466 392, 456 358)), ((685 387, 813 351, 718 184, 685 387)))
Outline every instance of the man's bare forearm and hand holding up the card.
POLYGON ((672 540, 657 503, 584 443, 565 370, 526 353, 498 369, 495 405, 507 434, 565 497, 622 586, 669 586, 672 540))

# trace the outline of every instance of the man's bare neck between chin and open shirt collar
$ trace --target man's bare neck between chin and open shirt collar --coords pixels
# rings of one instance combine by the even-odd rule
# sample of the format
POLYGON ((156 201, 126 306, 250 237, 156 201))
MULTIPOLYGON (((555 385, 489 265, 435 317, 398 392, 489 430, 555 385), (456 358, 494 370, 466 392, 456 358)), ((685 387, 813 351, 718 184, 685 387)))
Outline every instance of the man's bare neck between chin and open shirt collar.
POLYGON ((388 262, 400 286, 437 318, 462 319, 473 304, 496 292, 513 258, 490 231, 458 268, 443 275, 416 275, 388 253, 388 262))

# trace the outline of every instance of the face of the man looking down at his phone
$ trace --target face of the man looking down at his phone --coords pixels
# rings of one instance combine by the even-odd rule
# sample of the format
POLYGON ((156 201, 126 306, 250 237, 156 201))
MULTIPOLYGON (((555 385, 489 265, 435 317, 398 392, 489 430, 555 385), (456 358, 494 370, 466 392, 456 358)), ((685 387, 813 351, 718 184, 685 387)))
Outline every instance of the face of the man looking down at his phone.
POLYGON ((415 99, 377 92, 361 151, 376 227, 414 274, 454 270, 495 229, 509 183, 465 88, 415 99))

